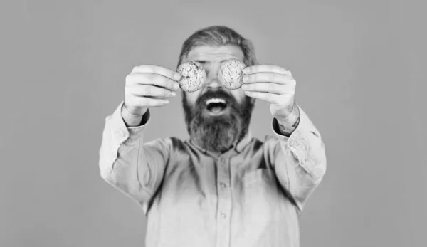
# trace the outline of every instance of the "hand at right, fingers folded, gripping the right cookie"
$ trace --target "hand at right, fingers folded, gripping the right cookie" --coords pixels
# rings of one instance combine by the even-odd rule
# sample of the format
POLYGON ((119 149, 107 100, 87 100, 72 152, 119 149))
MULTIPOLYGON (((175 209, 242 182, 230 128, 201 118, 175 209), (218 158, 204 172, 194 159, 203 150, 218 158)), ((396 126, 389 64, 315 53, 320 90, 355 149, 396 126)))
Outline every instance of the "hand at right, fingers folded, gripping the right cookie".
POLYGON ((287 120, 294 110, 296 81, 289 70, 276 65, 253 65, 243 70, 243 90, 252 98, 270 103, 277 120, 287 120))

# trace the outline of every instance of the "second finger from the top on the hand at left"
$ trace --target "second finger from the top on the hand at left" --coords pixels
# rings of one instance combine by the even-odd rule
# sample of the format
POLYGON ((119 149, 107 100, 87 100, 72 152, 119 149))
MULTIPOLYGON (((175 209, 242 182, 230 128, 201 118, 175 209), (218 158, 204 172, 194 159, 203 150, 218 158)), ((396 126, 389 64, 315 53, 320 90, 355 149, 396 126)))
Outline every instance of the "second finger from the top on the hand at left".
POLYGON ((156 85, 169 90, 177 90, 179 83, 156 73, 130 73, 126 77, 126 85, 156 85))

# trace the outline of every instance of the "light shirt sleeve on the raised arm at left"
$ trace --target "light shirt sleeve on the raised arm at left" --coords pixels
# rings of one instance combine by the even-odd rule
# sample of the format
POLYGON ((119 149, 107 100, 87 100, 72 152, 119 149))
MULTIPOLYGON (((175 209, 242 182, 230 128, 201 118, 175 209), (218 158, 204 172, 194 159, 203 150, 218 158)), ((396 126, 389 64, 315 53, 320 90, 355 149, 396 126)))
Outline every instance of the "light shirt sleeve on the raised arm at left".
POLYGON ((147 210, 152 194, 162 182, 172 142, 169 139, 144 142, 149 110, 142 125, 127 127, 121 115, 122 105, 105 119, 99 152, 100 175, 147 210))

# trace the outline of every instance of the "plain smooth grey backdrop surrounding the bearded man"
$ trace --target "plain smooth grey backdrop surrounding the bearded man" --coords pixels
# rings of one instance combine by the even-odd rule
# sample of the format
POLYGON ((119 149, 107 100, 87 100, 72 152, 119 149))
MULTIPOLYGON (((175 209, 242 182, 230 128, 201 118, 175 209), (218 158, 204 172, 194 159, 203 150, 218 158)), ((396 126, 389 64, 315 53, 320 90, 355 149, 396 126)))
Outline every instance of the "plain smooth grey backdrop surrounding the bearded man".
MULTIPOLYGON (((224 24, 292 71, 327 174, 302 246, 427 246, 422 1, 1 1, 0 246, 144 246, 142 209, 97 167, 125 76, 175 68, 196 29, 224 24), (178 3, 179 2, 179 3, 178 3), (280 3, 280 4, 279 4, 280 3)), ((180 95, 147 140, 186 138, 180 95)), ((270 134, 257 103, 251 131, 270 134)))

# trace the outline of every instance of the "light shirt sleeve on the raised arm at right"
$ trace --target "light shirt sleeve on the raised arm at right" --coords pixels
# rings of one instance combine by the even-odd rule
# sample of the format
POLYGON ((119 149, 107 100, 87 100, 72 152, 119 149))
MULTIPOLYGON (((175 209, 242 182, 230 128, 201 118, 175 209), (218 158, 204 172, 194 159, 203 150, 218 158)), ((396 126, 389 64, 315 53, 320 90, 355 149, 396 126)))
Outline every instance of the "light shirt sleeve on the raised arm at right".
POLYGON ((305 201, 325 175, 326 153, 320 132, 298 107, 300 123, 289 137, 280 134, 278 121, 273 119, 275 138, 270 142, 269 152, 278 181, 302 211, 305 201))

